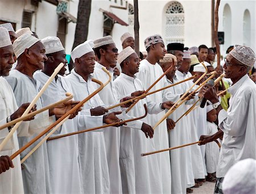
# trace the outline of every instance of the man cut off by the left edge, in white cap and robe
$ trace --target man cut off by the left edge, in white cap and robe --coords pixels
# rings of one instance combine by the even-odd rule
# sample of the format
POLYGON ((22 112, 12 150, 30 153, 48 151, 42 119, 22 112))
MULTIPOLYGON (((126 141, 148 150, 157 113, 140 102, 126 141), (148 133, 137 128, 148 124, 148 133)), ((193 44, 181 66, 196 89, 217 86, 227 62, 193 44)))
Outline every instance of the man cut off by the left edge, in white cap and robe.
MULTIPOLYGON (((6 28, 0 28, 0 125, 6 124, 11 120, 22 116, 29 104, 22 104, 22 106, 18 108, 13 90, 11 89, 9 83, 7 83, 3 78, 9 75, 9 71, 11 70, 11 66, 14 62, 13 55, 14 50, 9 33, 6 28)), ((21 129, 26 127, 26 125, 24 126, 23 124, 24 122, 21 124, 21 129)), ((11 127, 0 130, 0 142, 2 142, 9 134, 9 130, 11 130, 11 127)), ((9 169, 9 166, 12 167, 9 171, 1 174, 0 176, 1 193, 24 193, 19 155, 13 159, 13 165, 11 165, 12 162, 9 157, 3 157, 3 155, 10 156, 19 149, 17 132, 19 133, 19 130, 13 134, 11 140, 7 142, 7 144, 3 147, 3 150, 0 151, 0 155, 2 155, 1 172, 5 172, 5 170, 9 169), (4 166, 3 163, 5 164, 4 166)))

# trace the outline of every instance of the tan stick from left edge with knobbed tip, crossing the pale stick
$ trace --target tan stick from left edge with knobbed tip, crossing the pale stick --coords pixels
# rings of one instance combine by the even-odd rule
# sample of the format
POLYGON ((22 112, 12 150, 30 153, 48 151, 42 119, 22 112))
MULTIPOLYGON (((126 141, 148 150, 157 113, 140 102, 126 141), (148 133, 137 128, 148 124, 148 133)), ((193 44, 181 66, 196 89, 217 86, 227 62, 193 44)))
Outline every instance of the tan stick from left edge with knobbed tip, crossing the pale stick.
POLYGON ((39 114, 41 112, 44 112, 44 111, 46 111, 46 110, 48 110, 50 108, 54 108, 54 107, 58 106, 59 104, 67 102, 68 100, 71 100, 73 98, 73 95, 71 93, 66 93, 66 96, 68 96, 68 97, 63 99, 63 100, 60 100, 60 101, 58 101, 56 103, 49 104, 48 106, 43 107, 43 108, 41 108, 41 109, 39 109, 37 111, 31 112, 31 113, 27 114, 26 116, 19 117, 18 119, 12 120, 9 123, 6 123, 6 124, 0 126, 0 130, 5 129, 8 126, 14 125, 15 123, 18 123, 19 121, 23 121, 23 120, 29 119, 32 116, 35 116, 35 115, 37 115, 37 114, 39 114))

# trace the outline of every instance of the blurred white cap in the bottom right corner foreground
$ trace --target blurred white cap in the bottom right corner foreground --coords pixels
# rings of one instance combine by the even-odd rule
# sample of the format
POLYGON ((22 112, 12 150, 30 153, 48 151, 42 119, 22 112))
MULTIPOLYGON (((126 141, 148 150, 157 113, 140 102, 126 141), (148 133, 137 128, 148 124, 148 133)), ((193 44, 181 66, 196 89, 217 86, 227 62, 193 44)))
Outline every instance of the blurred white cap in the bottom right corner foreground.
POLYGON ((225 194, 256 193, 256 161, 247 158, 229 168, 222 182, 225 194))

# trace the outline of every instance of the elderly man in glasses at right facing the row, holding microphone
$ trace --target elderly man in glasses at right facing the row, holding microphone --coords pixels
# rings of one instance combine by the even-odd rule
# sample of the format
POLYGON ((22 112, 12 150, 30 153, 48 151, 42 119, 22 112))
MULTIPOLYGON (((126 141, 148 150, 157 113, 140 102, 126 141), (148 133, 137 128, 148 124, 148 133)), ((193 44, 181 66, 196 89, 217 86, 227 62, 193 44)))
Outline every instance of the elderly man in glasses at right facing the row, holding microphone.
POLYGON ((221 130, 213 136, 201 136, 201 144, 216 140, 223 134, 215 193, 223 193, 222 180, 230 167, 242 159, 256 158, 256 86, 247 75, 255 60, 253 50, 242 45, 235 45, 226 57, 223 67, 225 77, 233 82, 228 89, 232 97, 227 112, 220 106, 213 88, 208 88, 204 96, 213 103, 214 108, 217 108, 218 126, 221 130))

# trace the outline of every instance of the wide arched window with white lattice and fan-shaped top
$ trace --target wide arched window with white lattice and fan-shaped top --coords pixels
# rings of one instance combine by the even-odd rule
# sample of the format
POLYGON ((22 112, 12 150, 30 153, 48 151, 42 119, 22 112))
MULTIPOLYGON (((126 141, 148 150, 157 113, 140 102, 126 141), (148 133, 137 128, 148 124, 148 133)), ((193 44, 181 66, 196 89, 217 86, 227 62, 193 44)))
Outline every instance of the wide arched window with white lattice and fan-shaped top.
POLYGON ((164 37, 165 43, 184 43, 184 10, 183 6, 177 2, 172 1, 164 9, 165 19, 164 37))

